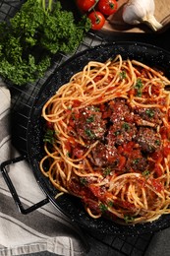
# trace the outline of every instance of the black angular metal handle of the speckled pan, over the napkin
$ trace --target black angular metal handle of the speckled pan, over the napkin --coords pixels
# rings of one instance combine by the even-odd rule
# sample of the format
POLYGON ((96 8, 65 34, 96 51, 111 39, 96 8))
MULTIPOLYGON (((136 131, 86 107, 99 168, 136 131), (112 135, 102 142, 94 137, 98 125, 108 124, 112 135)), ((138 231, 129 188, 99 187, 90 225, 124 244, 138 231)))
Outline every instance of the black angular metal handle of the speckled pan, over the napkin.
POLYGON ((2 175, 4 177, 4 180, 13 196, 13 199, 17 205, 17 207, 19 208, 19 211, 24 214, 24 215, 27 215, 31 212, 33 212, 34 210, 46 205, 47 203, 49 203, 49 199, 48 197, 46 197, 45 199, 43 199, 42 201, 39 201, 38 203, 28 207, 27 209, 24 208, 19 196, 18 196, 18 193, 15 189, 15 186, 13 185, 13 182, 8 174, 8 171, 7 171, 7 168, 6 166, 7 165, 10 165, 10 164, 13 164, 15 162, 19 162, 21 160, 27 160, 27 156, 20 156, 18 158, 15 158, 15 159, 12 159, 12 160, 6 160, 6 161, 3 161, 1 163, 1 172, 2 172, 2 175))

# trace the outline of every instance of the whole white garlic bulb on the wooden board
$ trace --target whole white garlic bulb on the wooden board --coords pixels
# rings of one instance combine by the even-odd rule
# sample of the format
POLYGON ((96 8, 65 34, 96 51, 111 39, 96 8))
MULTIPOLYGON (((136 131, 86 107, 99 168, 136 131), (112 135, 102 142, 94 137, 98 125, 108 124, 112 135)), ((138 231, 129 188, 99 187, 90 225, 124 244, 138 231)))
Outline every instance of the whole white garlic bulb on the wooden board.
POLYGON ((129 0, 123 9, 123 20, 131 25, 145 23, 154 32, 160 30, 162 25, 154 17, 154 0, 129 0))

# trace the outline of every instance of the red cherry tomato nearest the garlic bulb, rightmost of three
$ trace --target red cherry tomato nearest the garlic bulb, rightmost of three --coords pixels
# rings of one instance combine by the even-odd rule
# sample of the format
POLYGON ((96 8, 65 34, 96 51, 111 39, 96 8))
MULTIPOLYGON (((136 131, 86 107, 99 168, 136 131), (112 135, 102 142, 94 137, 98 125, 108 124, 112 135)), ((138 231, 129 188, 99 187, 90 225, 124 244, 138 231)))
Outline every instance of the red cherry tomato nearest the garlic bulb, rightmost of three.
POLYGON ((109 16, 117 11, 118 4, 116 0, 99 0, 97 8, 103 15, 109 16))

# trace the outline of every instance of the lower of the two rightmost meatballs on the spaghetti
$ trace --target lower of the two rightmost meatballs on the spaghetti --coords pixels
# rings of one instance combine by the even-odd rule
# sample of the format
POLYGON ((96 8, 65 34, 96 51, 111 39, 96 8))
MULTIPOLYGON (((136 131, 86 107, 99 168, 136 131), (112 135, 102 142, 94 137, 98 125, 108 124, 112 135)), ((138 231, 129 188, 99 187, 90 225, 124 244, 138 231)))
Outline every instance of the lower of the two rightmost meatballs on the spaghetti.
POLYGON ((153 153, 161 147, 161 136, 154 129, 141 127, 135 141, 140 145, 142 152, 153 153))

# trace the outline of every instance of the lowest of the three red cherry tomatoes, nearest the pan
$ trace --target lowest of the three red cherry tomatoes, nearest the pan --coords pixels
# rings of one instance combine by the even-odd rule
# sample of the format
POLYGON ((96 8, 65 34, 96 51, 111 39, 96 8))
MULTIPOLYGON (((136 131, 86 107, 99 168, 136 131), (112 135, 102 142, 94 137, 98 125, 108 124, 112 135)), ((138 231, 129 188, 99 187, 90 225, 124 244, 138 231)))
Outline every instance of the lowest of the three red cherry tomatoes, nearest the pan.
POLYGON ((87 17, 91 21, 92 30, 99 31, 104 26, 105 18, 100 12, 93 11, 87 17))

